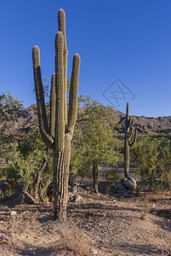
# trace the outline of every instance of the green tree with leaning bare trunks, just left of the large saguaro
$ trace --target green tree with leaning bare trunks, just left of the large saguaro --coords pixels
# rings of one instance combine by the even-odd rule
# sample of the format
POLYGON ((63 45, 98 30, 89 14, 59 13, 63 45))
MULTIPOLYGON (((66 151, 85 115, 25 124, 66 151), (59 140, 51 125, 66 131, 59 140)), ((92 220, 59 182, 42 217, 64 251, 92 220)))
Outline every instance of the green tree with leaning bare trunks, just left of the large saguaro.
POLYGON ((20 180, 23 193, 33 203, 43 200, 52 179, 52 149, 43 143, 38 130, 29 131, 24 140, 16 141, 10 148, 13 154, 6 166, 7 177, 20 180))

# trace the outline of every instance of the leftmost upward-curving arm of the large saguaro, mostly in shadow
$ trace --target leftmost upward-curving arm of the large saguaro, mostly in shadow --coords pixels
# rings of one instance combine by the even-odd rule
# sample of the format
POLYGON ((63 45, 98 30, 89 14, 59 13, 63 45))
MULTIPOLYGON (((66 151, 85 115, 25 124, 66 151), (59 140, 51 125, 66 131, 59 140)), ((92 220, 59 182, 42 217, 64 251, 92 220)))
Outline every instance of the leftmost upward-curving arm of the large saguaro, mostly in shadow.
POLYGON ((46 145, 49 148, 53 148, 54 138, 50 135, 50 132, 49 132, 46 108, 44 103, 43 82, 42 82, 41 67, 40 67, 40 50, 36 45, 32 49, 32 61, 33 61, 35 90, 36 90, 36 96, 37 96, 37 112, 38 112, 39 128, 40 128, 40 132, 43 137, 44 143, 46 143, 46 145))

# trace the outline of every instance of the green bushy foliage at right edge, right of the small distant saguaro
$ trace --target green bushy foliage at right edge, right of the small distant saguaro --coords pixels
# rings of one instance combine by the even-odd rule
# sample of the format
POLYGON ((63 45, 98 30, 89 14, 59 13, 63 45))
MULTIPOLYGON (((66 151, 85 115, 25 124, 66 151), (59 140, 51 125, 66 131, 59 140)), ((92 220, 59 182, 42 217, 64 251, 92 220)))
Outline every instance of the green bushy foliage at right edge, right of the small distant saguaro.
MULTIPOLYGON (((136 172, 142 180, 167 185, 171 189, 171 148, 167 138, 142 137, 132 150, 136 172)), ((157 184, 156 183, 156 184, 157 184)))

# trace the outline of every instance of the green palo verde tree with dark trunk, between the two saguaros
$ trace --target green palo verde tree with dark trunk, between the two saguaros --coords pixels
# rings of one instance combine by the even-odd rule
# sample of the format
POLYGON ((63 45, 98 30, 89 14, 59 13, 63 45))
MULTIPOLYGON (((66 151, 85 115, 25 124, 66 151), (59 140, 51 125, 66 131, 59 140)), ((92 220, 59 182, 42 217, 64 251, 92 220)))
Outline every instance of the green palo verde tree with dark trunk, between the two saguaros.
POLYGON ((82 102, 72 141, 71 172, 83 177, 92 168, 94 192, 98 193, 99 165, 116 165, 118 160, 113 131, 117 114, 113 108, 102 106, 90 96, 82 102))

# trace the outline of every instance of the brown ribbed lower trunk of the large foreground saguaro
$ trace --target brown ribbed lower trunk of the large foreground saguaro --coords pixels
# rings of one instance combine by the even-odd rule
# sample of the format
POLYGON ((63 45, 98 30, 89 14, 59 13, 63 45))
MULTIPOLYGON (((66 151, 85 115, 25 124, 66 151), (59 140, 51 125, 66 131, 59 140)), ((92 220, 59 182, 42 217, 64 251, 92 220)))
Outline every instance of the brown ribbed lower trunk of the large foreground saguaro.
POLYGON ((66 205, 68 201, 68 180, 71 155, 71 134, 65 136, 65 148, 55 150, 54 148, 54 219, 66 218, 66 205))

